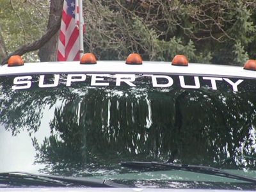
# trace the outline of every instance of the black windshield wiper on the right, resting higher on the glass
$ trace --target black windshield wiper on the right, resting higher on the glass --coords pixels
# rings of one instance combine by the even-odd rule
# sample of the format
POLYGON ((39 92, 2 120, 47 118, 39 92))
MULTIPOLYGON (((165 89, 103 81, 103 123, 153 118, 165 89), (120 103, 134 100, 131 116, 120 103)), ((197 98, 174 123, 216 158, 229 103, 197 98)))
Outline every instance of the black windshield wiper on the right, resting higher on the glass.
POLYGON ((255 178, 228 173, 218 168, 213 168, 211 166, 198 166, 193 164, 177 164, 177 163, 161 163, 161 162, 154 162, 154 161, 152 162, 126 161, 126 162, 121 162, 121 166, 129 167, 129 168, 140 168, 140 169, 146 168, 150 170, 182 170, 186 172, 204 173, 207 175, 216 175, 219 177, 226 177, 229 179, 243 180, 246 182, 252 182, 253 184, 256 184, 255 178))

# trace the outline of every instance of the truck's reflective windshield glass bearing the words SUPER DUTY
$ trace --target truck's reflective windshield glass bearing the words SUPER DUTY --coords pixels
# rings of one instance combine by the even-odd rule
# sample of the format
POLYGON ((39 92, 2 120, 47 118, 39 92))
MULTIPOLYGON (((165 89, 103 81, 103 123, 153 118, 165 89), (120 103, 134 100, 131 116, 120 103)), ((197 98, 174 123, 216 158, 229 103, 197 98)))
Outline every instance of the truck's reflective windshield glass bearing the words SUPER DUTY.
POLYGON ((255 79, 39 74, 4 76, 0 83, 1 172, 119 180, 132 187, 253 185, 120 166, 157 161, 256 178, 255 79))

